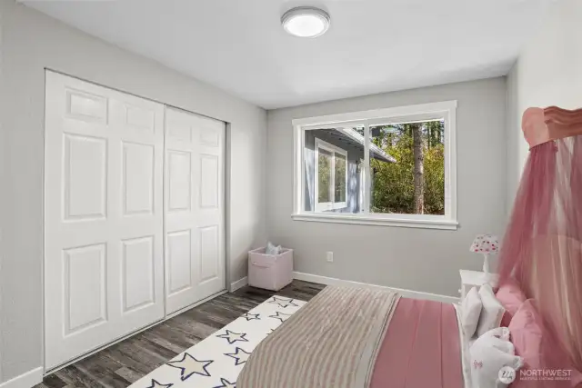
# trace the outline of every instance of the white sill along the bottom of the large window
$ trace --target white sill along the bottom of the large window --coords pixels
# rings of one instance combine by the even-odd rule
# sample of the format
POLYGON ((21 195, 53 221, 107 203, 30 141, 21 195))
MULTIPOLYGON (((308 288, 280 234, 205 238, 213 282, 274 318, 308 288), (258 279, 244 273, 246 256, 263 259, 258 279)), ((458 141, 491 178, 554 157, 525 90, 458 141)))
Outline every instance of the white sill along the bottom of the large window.
POLYGON ((403 228, 457 230, 458 223, 446 219, 410 219, 382 216, 363 216, 346 214, 292 214, 294 221, 307 221, 331 224, 359 224, 376 226, 399 226, 403 228))

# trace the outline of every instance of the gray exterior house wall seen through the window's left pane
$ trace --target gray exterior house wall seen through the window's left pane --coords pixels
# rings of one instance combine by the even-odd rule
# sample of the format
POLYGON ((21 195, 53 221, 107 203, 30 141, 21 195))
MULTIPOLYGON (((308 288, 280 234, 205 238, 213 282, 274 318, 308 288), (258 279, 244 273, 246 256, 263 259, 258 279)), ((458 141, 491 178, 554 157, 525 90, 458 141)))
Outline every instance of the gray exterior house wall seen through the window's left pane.
POLYGON ((347 175, 347 185, 346 185, 346 207, 342 209, 331 210, 334 213, 357 213, 359 212, 359 173, 357 172, 357 163, 360 159, 364 158, 364 148, 356 149, 355 147, 346 147, 346 144, 338 142, 335 137, 328 134, 326 131, 322 130, 311 130, 306 131, 306 181, 308 181, 309 187, 311 187, 311 193, 305 185, 305 209, 307 212, 314 211, 316 204, 316 193, 314 190, 315 180, 316 180, 316 138, 323 140, 336 147, 346 149, 346 175, 347 175))

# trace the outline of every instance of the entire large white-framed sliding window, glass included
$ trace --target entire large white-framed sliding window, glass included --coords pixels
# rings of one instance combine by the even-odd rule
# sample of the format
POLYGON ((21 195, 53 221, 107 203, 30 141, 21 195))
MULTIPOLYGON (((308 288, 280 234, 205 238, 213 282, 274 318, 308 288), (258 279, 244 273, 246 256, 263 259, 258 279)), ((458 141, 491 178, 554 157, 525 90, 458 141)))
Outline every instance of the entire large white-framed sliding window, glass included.
POLYGON ((456 107, 294 120, 293 218, 456 229, 456 107))

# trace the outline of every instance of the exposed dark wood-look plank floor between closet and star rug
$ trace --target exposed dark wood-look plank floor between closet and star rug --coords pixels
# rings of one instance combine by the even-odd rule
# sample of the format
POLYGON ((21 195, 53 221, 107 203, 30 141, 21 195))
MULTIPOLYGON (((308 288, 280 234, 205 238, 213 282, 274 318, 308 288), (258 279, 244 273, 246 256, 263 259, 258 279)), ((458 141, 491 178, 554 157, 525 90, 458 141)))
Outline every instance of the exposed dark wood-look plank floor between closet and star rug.
POLYGON ((309 301, 324 287, 294 280, 276 293, 249 286, 225 293, 49 374, 35 388, 126 387, 272 295, 309 301))

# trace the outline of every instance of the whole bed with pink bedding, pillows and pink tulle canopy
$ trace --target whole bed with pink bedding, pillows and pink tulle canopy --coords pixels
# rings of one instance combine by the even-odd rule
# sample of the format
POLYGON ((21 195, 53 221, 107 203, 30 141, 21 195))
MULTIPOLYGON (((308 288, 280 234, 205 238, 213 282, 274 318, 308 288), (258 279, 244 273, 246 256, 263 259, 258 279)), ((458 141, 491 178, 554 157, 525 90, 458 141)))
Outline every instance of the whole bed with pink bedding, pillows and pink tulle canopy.
POLYGON ((451 304, 329 287, 256 347, 236 386, 582 387, 582 109, 528 108, 522 129, 499 290, 467 294, 463 330, 451 304), (469 356, 463 333, 476 332, 469 356))

